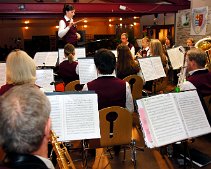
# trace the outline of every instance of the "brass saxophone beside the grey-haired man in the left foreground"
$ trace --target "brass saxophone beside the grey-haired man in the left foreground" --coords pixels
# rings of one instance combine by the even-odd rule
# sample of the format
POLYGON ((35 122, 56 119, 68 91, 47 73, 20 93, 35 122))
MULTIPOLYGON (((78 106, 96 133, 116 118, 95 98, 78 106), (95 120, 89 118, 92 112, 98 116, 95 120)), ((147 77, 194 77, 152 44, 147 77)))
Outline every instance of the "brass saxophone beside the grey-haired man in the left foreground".
POLYGON ((53 146, 53 150, 56 153, 57 163, 60 169, 75 169, 73 161, 67 151, 67 148, 64 146, 62 142, 57 141, 57 136, 53 130, 51 130, 51 144, 53 146))

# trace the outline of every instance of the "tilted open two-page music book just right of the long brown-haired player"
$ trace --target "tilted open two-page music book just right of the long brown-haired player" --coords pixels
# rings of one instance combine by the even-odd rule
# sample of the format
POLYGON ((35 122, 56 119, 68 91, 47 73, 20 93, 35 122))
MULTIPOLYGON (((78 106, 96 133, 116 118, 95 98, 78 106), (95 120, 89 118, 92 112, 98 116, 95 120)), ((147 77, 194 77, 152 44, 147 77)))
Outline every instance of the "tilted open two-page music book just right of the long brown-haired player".
POLYGON ((159 56, 138 59, 145 81, 165 77, 165 71, 159 56))

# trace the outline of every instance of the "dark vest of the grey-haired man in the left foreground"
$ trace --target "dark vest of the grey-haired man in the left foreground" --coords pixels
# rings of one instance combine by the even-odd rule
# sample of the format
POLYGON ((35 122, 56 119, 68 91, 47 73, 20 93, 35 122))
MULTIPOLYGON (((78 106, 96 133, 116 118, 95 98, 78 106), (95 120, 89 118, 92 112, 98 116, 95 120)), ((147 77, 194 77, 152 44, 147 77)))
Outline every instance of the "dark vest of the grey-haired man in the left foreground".
POLYGON ((48 169, 41 159, 29 154, 7 154, 3 165, 15 169, 48 169))

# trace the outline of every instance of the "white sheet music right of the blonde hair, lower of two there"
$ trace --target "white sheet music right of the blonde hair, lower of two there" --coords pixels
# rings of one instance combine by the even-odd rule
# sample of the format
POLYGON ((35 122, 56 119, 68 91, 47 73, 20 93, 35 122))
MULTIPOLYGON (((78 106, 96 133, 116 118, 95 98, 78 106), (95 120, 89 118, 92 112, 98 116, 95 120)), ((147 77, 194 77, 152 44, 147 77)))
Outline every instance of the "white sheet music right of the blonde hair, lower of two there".
POLYGON ((35 84, 42 87, 46 92, 55 91, 54 85, 51 85, 51 83, 54 82, 53 69, 36 70, 36 76, 35 84))

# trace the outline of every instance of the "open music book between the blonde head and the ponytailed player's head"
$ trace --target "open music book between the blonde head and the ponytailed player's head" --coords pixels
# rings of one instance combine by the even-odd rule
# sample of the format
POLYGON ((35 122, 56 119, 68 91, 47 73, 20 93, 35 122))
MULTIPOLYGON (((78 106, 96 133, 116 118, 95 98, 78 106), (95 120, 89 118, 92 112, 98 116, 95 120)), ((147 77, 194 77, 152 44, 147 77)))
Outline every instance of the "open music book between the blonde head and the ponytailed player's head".
POLYGON ((37 52, 34 56, 36 66, 56 66, 58 52, 37 52))

